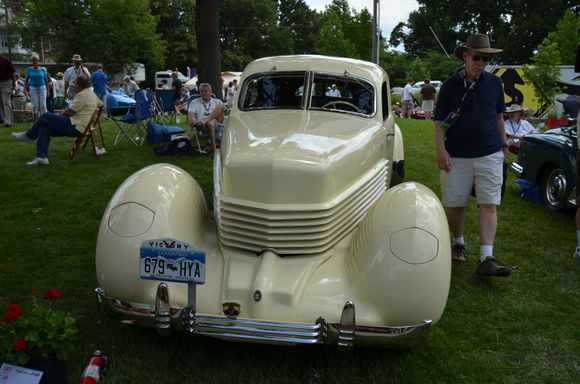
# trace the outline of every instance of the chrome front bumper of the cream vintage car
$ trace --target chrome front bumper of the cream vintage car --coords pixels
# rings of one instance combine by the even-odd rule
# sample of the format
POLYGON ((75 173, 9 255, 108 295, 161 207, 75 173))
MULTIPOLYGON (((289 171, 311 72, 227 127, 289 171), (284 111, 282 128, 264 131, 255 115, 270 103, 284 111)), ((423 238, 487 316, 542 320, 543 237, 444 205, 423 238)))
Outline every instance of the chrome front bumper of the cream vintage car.
POLYGON ((160 283, 157 288, 155 306, 109 297, 102 288, 95 292, 99 303, 108 305, 121 315, 123 323, 154 326, 162 335, 181 330, 258 343, 409 348, 426 338, 432 322, 423 320, 421 324, 396 327, 357 325, 355 306, 350 301, 343 307, 340 323, 329 323, 322 317, 313 324, 300 324, 205 315, 196 313, 195 304, 184 308, 171 307, 165 283, 160 283))

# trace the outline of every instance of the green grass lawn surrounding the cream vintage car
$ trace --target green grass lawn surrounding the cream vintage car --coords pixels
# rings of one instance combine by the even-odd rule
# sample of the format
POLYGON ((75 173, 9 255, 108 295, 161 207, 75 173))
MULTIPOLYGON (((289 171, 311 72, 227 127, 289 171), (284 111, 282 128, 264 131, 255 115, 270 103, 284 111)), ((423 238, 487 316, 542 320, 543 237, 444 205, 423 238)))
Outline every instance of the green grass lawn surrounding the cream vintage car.
MULTIPOLYGON (((439 193, 432 123, 398 120, 405 139, 406 179, 439 193)), ((578 383, 580 382, 580 262, 572 213, 554 214, 519 196, 510 174, 498 210, 497 257, 514 268, 507 279, 477 278, 477 212, 467 213, 467 256, 453 264, 442 319, 428 342, 408 351, 340 353, 325 347, 223 342, 122 325, 100 312, 93 293, 101 215, 119 184, 156 162, 181 166, 211 202, 211 160, 158 157, 151 146, 112 146, 67 159, 71 138, 52 140, 46 167, 30 167, 34 146, 0 128, 0 306, 27 308, 32 288, 55 287, 79 318, 69 382, 78 381, 95 349, 110 358, 104 383, 578 383)), ((3 313, 3 312, 2 312, 3 313)))

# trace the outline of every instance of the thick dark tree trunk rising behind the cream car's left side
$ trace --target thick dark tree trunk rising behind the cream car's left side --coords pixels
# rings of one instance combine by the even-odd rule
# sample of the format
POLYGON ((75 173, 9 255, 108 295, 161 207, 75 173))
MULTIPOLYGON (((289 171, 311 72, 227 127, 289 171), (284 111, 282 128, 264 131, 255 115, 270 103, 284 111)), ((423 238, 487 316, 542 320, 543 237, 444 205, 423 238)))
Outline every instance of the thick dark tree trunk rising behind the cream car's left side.
POLYGON ((219 42, 219 0, 197 0, 195 33, 199 83, 209 83, 212 92, 223 99, 219 42))

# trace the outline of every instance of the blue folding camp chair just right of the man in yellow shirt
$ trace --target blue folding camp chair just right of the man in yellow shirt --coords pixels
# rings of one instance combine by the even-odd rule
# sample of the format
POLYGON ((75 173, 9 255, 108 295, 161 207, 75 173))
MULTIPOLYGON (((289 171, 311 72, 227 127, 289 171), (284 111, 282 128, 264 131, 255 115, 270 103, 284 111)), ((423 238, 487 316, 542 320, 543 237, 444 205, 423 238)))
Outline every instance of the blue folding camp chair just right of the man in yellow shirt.
POLYGON ((115 145, 119 144, 123 138, 135 144, 135 146, 141 146, 145 141, 147 122, 153 118, 151 114, 153 97, 148 97, 145 91, 139 91, 135 93, 135 100, 137 103, 132 113, 127 113, 121 118, 111 116, 111 120, 119 128, 119 133, 115 137, 115 145), (134 133, 132 133, 133 130, 134 133))

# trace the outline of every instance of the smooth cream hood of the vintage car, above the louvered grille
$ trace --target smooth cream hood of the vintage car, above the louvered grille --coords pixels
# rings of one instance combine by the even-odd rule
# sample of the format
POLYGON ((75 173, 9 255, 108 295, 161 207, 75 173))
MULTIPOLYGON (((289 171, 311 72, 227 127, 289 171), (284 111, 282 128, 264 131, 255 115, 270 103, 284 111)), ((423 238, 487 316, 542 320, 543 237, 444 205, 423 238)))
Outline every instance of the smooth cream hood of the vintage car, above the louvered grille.
POLYGON ((381 122, 334 112, 240 112, 225 132, 222 198, 244 205, 329 202, 386 152, 381 122))

